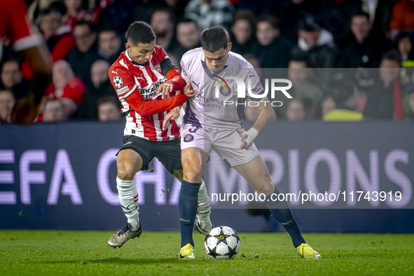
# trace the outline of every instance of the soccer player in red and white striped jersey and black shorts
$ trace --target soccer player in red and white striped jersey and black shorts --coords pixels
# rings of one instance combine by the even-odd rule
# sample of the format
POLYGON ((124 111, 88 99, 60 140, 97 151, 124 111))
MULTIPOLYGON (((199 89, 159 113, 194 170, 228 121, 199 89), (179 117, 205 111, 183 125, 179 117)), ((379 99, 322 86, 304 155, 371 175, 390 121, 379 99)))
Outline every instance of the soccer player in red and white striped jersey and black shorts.
MULTIPOLYGON (((138 193, 134 176, 139 170, 148 170, 156 157, 179 181, 182 181, 179 127, 179 106, 195 92, 183 90, 185 82, 162 47, 156 46, 156 35, 145 22, 132 23, 127 31, 127 50, 109 68, 109 78, 122 103, 127 117, 123 147, 117 154, 116 184, 120 205, 127 223, 113 234, 108 244, 121 247, 127 240, 139 237, 138 193), (167 121, 163 130, 163 121, 167 121)), ((187 88, 190 83, 187 83, 187 88)), ((210 200, 204 182, 199 190, 199 212, 209 216, 210 200)))

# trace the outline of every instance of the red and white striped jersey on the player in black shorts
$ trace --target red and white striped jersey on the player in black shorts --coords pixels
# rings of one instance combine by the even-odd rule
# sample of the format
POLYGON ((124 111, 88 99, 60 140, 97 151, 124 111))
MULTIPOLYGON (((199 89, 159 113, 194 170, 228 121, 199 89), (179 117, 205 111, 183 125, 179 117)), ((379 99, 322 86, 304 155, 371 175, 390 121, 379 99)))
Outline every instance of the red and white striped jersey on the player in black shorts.
POLYGON ((162 47, 156 46, 149 62, 137 64, 128 55, 127 50, 109 68, 109 79, 122 104, 121 112, 127 117, 124 135, 136 135, 150 141, 170 141, 179 137, 179 127, 170 120, 167 129, 163 129, 165 115, 188 97, 174 91, 184 87, 184 81, 168 81, 179 76, 177 67, 172 64, 162 47), (173 90, 167 99, 157 90, 163 83, 172 85, 173 90))

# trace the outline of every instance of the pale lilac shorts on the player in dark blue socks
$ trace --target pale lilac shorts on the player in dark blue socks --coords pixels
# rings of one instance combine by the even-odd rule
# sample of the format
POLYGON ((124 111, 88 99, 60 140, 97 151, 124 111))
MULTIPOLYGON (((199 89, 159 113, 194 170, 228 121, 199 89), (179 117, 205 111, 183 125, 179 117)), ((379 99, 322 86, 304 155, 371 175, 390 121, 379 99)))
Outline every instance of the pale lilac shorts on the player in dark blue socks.
MULTIPOLYGON (((240 130, 244 131, 242 128, 240 130)), ((181 151, 198 148, 210 156, 210 151, 214 149, 223 158, 228 169, 245 164, 260 155, 254 143, 250 149, 240 149, 242 138, 235 130, 203 129, 185 124, 181 127, 180 134, 181 151)))

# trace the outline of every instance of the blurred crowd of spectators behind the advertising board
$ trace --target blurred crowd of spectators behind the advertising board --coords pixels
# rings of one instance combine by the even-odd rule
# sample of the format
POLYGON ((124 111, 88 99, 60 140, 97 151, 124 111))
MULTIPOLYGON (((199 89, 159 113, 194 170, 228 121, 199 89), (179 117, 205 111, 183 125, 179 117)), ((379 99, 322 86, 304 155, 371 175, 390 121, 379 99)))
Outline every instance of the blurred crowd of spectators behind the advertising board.
MULTIPOLYGON (((151 25, 177 67, 203 29, 228 29, 233 52, 292 81, 277 120, 414 119, 414 0, 37 0, 27 20, 53 60, 37 122, 121 120, 108 69, 136 20, 151 25)), ((0 65, 6 123, 32 71, 8 47, 0 65)), ((244 117, 257 112, 247 104, 244 117)))

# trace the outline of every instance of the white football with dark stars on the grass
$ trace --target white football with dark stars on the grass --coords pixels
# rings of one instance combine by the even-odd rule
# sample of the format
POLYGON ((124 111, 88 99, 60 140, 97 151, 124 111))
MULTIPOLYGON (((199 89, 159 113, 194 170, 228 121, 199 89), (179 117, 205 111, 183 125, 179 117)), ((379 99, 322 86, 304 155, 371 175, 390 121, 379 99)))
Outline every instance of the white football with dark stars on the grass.
POLYGON ((205 236, 204 249, 211 258, 234 258, 240 250, 240 238, 228 226, 218 226, 205 236))

